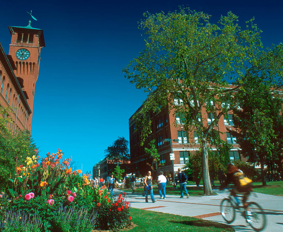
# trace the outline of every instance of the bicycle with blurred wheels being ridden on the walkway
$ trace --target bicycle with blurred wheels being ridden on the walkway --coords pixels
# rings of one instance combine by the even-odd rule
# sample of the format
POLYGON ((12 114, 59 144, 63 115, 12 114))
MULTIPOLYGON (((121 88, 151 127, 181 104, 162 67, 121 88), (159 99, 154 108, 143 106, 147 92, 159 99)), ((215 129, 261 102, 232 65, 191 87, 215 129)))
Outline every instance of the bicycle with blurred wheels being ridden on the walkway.
MULTIPOLYGON (((236 196, 243 197, 241 195, 236 196)), ((224 198, 220 203, 222 217, 227 223, 232 223, 235 220, 235 211, 237 209, 255 231, 261 231, 266 225, 266 217, 263 209, 256 202, 247 201, 246 203, 248 204, 247 207, 238 206, 233 196, 229 195, 228 198, 224 198), (247 213, 247 209, 249 209, 249 213, 247 213)))

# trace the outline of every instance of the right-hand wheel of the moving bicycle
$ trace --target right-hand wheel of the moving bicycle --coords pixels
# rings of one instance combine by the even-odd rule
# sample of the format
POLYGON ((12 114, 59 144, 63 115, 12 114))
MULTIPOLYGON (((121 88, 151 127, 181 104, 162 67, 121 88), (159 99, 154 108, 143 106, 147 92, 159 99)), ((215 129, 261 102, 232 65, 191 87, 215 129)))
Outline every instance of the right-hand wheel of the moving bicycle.
POLYGON ((251 213, 246 211, 246 221, 255 231, 261 231, 266 224, 266 217, 263 209, 256 202, 250 202, 248 209, 251 213))

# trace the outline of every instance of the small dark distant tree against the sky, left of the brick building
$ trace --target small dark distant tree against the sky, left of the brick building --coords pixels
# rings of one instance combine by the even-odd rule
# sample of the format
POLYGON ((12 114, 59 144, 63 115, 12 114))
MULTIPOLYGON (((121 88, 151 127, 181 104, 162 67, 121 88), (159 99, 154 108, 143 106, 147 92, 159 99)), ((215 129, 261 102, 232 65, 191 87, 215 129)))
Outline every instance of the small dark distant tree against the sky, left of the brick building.
POLYGON ((105 150, 105 157, 114 162, 122 161, 123 163, 127 163, 130 160, 128 144, 129 141, 124 137, 118 137, 118 139, 105 150))

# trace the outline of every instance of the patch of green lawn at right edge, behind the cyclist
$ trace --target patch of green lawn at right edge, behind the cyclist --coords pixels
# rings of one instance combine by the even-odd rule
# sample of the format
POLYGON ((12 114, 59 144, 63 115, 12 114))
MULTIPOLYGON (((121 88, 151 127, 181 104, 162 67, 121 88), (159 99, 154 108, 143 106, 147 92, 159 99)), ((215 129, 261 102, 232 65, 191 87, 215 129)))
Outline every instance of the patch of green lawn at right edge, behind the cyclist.
POLYGON ((283 196, 283 181, 269 181, 266 185, 263 187, 261 182, 254 182, 254 192, 283 196))

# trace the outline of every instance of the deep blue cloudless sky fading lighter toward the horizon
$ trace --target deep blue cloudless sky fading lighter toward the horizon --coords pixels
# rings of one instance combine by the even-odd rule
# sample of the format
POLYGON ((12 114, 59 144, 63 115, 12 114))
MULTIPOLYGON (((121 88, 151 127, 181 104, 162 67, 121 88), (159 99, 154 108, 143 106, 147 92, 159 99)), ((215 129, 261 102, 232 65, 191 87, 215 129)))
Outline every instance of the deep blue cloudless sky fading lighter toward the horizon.
POLYGON ((32 138, 40 155, 60 148, 83 172, 104 158, 119 136, 129 140, 129 117, 145 100, 122 73, 144 48, 137 29, 142 13, 168 12, 179 5, 212 15, 232 11, 240 25, 255 17, 264 47, 283 41, 280 1, 4 1, 0 0, 0 42, 9 52, 8 26, 27 26, 32 10, 43 29, 35 88, 32 138))

